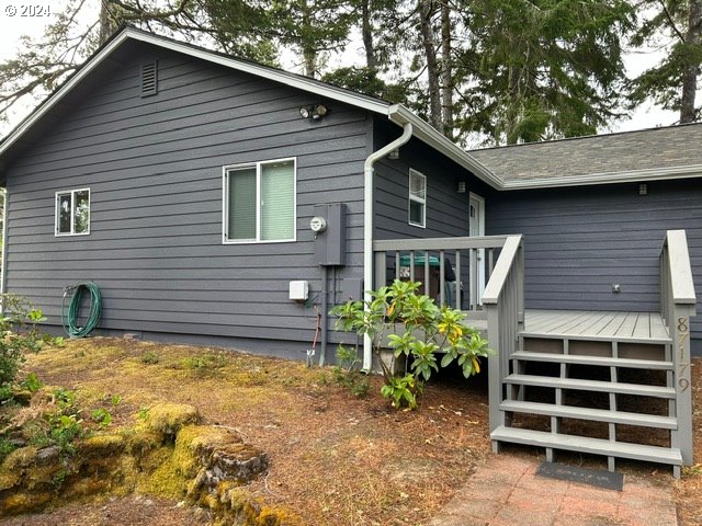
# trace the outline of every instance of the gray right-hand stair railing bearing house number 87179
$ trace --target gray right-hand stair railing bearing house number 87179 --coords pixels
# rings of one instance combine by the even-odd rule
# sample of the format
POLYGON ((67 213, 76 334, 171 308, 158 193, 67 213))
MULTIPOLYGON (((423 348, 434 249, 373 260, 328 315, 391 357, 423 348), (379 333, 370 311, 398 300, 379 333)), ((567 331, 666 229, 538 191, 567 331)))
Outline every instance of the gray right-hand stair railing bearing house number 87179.
POLYGON ((672 447, 679 447, 682 461, 692 465, 692 385, 690 375, 690 317, 695 315, 697 297, 684 230, 668 230, 660 252, 660 313, 665 319, 672 348, 667 359, 673 371, 668 386, 675 387, 676 399, 670 413, 677 416, 672 447), (675 382, 675 386, 672 384, 675 382))

